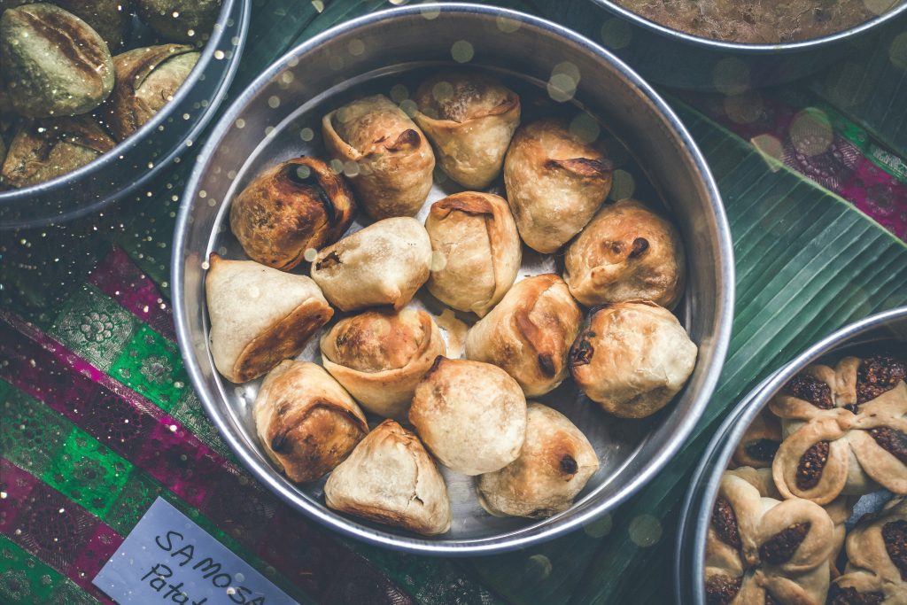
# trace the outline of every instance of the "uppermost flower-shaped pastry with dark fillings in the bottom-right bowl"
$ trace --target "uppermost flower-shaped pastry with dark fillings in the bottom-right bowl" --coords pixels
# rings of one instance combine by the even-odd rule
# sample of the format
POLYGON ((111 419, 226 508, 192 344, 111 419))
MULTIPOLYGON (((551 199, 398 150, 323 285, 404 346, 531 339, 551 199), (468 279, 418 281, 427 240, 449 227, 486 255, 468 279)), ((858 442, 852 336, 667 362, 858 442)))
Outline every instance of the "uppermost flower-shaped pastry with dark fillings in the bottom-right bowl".
POLYGON ((907 364, 889 356, 809 366, 769 404, 785 440, 772 471, 785 498, 829 503, 878 485, 907 494, 907 364))

